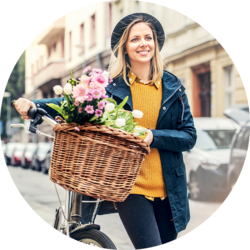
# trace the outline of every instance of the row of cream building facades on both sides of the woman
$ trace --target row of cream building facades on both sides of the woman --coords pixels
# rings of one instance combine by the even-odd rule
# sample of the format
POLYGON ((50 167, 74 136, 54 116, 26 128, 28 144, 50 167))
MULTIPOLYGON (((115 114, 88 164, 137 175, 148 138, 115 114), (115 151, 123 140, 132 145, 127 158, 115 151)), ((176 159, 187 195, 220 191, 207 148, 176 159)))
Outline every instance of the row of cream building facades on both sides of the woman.
MULTIPOLYGON (((189 15, 146 0, 87 4, 49 23, 25 48, 24 97, 54 97, 53 86, 63 87, 70 70, 75 78, 88 65, 107 70, 112 30, 121 18, 136 12, 156 16, 163 25, 166 39, 160 53, 165 69, 181 79, 194 117, 222 117, 226 108, 249 103, 244 79, 222 42, 189 15)), ((40 128, 52 134, 51 127, 40 128)))

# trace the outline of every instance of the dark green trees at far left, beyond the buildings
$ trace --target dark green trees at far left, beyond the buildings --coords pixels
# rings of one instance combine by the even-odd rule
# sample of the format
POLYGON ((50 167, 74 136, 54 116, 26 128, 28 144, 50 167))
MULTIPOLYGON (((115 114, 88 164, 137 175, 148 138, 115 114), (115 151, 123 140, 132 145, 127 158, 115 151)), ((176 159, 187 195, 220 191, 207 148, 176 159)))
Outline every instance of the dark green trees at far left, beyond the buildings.
MULTIPOLYGON (((11 100, 18 99, 25 92, 25 51, 23 50, 16 61, 12 69, 10 70, 8 77, 5 81, 4 92, 11 93, 11 100)), ((14 117, 20 117, 13 108, 11 108, 11 119, 14 117)), ((7 121, 7 98, 1 97, 0 101, 0 121, 3 123, 3 131, 0 135, 0 139, 7 137, 6 135, 6 121, 7 121)))

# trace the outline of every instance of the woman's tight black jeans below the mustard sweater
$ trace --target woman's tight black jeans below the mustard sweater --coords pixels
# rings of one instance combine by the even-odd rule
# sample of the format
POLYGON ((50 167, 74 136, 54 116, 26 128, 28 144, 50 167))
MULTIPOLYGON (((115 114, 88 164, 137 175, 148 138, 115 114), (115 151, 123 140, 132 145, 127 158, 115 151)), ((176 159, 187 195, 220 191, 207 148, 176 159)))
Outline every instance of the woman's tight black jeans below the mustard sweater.
POLYGON ((115 202, 121 221, 136 250, 151 249, 177 239, 168 197, 150 201, 144 195, 130 194, 115 202))

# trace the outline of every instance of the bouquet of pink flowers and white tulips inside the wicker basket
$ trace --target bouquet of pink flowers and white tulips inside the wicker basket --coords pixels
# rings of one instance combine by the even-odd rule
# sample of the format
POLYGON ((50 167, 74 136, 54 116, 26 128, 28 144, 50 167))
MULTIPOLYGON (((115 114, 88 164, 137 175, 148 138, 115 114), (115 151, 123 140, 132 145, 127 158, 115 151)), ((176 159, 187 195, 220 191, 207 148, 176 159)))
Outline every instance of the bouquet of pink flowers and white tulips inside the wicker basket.
POLYGON ((53 103, 47 105, 60 113, 66 123, 75 123, 75 130, 84 122, 107 125, 134 133, 136 136, 145 139, 147 129, 136 126, 135 118, 142 118, 143 113, 139 110, 132 112, 123 109, 128 96, 117 105, 116 101, 108 98, 105 87, 112 82, 107 71, 93 69, 88 66, 84 69, 83 75, 78 81, 73 77, 68 80, 64 88, 56 85, 53 89, 57 95, 63 94, 65 99, 60 107, 53 103), (135 129, 136 128, 136 129, 135 129))

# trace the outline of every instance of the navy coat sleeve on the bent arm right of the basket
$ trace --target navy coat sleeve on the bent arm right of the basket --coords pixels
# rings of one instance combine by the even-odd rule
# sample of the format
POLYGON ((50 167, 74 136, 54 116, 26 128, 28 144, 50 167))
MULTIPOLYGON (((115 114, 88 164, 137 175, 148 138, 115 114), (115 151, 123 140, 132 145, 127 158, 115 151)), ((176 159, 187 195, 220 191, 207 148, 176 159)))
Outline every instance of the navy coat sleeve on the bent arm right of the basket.
POLYGON ((178 122, 176 130, 159 129, 151 130, 154 139, 151 148, 165 149, 173 152, 183 152, 192 149, 196 143, 197 135, 194 127, 193 116, 186 94, 182 96, 184 104, 183 119, 178 122))

